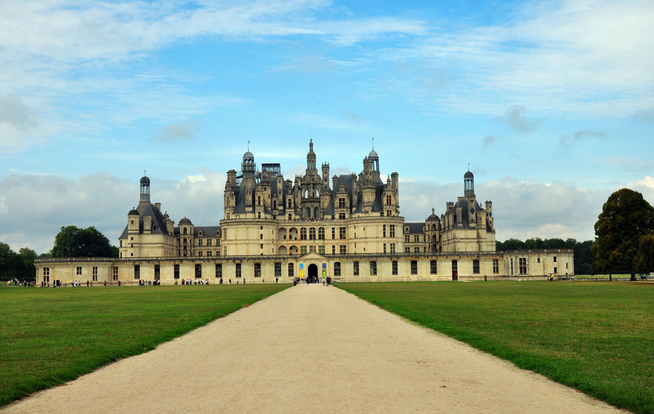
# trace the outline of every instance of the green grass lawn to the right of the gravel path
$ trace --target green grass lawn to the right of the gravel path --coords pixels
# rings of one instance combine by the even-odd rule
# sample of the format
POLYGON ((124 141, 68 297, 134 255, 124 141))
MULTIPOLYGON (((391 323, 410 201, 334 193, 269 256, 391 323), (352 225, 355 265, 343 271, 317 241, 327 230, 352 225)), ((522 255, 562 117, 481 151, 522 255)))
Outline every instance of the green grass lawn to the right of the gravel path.
POLYGON ((338 284, 616 407, 654 413, 654 284, 338 284))

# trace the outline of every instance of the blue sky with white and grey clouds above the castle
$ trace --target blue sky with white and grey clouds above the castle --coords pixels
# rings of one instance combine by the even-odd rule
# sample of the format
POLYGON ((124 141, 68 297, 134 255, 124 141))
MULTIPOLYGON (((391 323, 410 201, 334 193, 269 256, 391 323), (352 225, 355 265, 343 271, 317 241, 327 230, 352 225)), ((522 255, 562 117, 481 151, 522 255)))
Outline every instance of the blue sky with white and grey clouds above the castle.
POLYGON ((113 244, 150 177, 217 225, 226 172, 331 175, 373 145, 423 221, 493 201, 497 240, 594 238, 608 196, 654 203, 654 2, 0 2, 0 241, 113 244))

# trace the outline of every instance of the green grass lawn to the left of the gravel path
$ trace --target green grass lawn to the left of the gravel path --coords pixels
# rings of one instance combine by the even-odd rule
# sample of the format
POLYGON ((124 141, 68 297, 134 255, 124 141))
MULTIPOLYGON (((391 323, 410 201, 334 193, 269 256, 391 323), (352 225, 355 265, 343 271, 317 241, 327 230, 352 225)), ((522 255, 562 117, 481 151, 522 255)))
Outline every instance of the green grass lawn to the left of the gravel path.
POLYGON ((154 349, 288 286, 0 288, 0 406, 154 349))

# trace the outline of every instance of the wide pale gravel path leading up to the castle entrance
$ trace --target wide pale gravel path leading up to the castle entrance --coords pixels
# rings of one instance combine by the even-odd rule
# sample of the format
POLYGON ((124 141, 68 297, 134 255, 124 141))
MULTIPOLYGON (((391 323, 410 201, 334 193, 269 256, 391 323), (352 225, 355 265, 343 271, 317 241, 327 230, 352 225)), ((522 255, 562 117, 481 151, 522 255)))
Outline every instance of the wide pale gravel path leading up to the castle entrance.
POLYGON ((334 287, 300 285, 2 413, 618 413, 334 287))

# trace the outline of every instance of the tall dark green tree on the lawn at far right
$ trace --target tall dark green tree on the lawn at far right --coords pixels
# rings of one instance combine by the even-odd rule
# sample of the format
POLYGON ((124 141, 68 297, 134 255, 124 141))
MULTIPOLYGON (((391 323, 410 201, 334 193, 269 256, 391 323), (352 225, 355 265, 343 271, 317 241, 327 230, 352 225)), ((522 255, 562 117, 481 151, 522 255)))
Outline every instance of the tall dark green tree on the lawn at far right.
POLYGON ((611 194, 595 223, 596 271, 626 272, 636 280, 636 256, 643 236, 654 229, 654 208, 637 191, 611 194))

